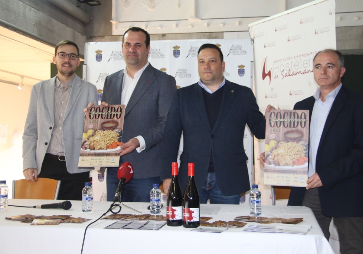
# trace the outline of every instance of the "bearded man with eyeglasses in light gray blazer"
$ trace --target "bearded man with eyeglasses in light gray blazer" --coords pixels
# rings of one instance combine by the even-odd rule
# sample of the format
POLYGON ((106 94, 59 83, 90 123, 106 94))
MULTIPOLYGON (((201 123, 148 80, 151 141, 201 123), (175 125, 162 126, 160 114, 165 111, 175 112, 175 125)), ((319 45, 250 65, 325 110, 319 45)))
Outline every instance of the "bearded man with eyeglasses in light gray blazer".
POLYGON ((97 88, 76 75, 78 46, 72 41, 56 45, 56 77, 33 86, 23 134, 23 175, 61 180, 60 200, 82 200, 82 188, 93 168, 78 168, 84 114, 97 88))

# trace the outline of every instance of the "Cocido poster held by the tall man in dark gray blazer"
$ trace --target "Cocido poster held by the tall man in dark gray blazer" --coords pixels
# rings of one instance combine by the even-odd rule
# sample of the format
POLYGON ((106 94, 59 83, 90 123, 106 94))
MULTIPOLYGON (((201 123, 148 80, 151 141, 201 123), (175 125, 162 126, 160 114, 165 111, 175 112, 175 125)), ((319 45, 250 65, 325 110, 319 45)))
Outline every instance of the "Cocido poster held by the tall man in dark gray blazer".
POLYGON ((79 167, 118 167, 125 105, 93 105, 86 113, 79 167))

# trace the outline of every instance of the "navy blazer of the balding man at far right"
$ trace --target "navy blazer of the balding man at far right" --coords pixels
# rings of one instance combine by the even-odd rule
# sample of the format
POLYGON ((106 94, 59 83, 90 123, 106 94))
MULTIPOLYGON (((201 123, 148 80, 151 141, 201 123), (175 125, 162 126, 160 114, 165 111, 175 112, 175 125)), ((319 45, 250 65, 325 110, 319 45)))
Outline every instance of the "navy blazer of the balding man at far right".
MULTIPOLYGON (((313 111, 315 99, 297 102, 294 109, 313 111)), ((363 98, 340 89, 322 132, 316 172, 323 214, 330 217, 363 216, 363 98)), ((301 205, 305 188, 291 188, 288 205, 301 205)))

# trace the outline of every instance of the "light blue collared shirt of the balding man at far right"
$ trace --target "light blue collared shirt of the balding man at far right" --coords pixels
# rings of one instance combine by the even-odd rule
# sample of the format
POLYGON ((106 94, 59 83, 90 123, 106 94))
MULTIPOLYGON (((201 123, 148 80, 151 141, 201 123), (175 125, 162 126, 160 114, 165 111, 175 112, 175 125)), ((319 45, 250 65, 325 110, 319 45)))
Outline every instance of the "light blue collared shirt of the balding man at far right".
POLYGON ((315 103, 313 107, 313 112, 311 113, 311 122, 310 122, 310 141, 309 141, 309 172, 308 176, 314 175, 316 172, 315 164, 318 152, 318 146, 320 143, 321 134, 323 132, 323 128, 325 126, 326 118, 330 112, 330 108, 333 105, 335 97, 342 87, 342 83, 331 91, 326 97, 325 102, 320 99, 320 87, 315 91, 314 98, 315 103))

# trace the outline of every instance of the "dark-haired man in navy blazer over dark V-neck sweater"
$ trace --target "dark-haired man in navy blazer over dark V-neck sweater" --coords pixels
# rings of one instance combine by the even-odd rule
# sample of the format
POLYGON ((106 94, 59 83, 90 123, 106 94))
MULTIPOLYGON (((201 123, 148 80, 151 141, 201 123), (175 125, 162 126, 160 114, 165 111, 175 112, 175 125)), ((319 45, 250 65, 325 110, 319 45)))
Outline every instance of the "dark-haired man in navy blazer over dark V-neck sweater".
POLYGON ((164 131, 160 178, 168 190, 171 163, 180 155, 179 182, 184 188, 188 163, 195 163, 195 182, 200 202, 238 204, 240 194, 250 189, 244 130, 247 124, 259 139, 265 138, 265 118, 252 90, 229 82, 223 76, 225 62, 214 44, 198 51, 200 81, 177 90, 164 131))

